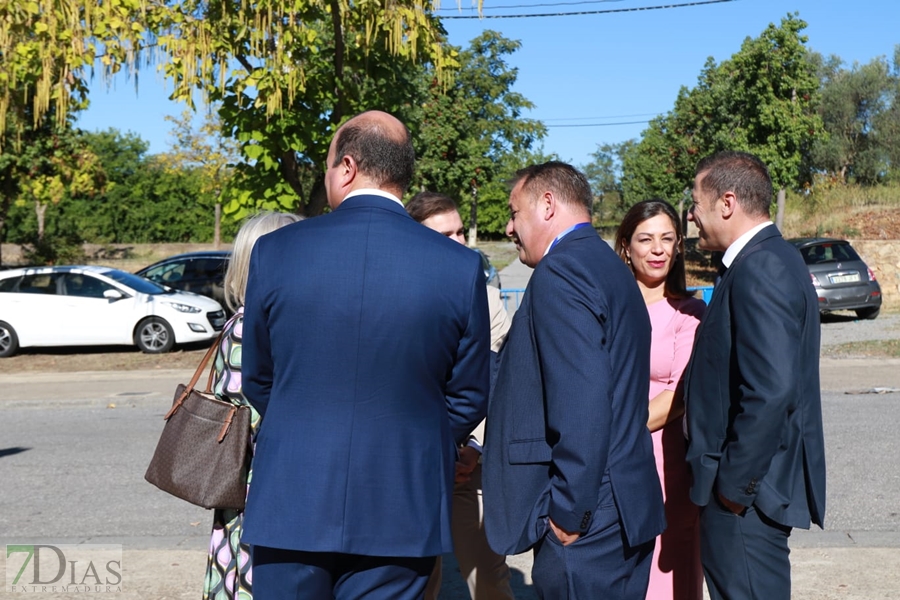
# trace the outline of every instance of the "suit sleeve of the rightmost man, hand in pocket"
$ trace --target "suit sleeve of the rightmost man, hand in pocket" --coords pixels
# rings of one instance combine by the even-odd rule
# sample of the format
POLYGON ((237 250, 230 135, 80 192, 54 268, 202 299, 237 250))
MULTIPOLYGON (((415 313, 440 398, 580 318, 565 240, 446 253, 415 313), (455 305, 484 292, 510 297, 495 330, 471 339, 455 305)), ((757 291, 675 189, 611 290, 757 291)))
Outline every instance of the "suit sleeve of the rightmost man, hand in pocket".
POLYGON ((797 406, 805 300, 798 287, 804 280, 796 281, 777 255, 760 252, 743 262, 731 290, 734 420, 716 483, 720 494, 750 506, 797 406))

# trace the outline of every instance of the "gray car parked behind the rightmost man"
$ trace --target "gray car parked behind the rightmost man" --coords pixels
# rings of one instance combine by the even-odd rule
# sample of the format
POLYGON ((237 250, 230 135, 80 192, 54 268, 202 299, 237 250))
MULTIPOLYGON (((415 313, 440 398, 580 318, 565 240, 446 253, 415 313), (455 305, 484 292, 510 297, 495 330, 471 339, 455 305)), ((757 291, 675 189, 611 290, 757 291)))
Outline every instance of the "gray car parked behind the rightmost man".
POLYGON ((800 238, 789 240, 809 267, 819 310, 853 310, 860 319, 874 319, 881 310, 881 286, 846 240, 800 238))

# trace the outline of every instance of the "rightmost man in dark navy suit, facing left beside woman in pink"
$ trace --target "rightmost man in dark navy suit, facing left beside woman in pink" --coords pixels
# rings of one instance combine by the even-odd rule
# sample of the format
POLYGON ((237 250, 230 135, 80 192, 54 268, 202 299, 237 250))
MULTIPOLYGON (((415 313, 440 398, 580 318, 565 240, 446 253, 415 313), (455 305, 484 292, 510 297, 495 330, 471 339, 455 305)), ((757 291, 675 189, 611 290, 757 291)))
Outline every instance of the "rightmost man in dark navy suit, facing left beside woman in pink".
POLYGON ((788 600, 791 529, 825 516, 818 299, 771 204, 757 157, 720 152, 697 165, 689 218, 700 248, 725 252, 684 387, 713 600, 788 600))

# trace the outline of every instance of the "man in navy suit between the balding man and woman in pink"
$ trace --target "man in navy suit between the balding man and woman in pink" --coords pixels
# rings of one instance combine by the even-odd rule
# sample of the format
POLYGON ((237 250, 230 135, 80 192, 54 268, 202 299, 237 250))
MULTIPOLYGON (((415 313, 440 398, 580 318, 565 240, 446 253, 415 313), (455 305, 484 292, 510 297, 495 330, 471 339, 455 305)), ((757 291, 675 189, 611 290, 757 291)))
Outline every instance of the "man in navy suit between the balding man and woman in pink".
POLYGON ((591 227, 584 175, 519 171, 506 233, 534 273, 488 411, 485 529, 534 548, 542 598, 643 600, 665 527, 647 429, 650 320, 628 267, 591 227))

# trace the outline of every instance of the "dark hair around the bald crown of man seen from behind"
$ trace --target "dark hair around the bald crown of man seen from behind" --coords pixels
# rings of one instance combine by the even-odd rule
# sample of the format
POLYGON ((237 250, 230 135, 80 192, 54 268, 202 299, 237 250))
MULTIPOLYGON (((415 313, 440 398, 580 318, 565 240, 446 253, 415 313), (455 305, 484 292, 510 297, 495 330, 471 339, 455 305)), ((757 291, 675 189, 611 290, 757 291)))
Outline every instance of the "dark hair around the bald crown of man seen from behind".
POLYGON ((331 166, 337 167, 343 157, 352 156, 359 172, 374 184, 397 187, 402 195, 409 187, 416 164, 412 137, 405 125, 403 131, 403 139, 395 139, 376 119, 348 123, 337 132, 331 166))

